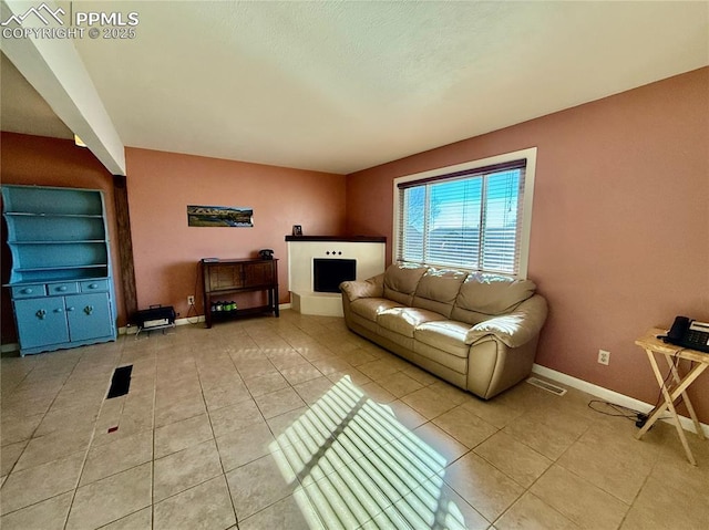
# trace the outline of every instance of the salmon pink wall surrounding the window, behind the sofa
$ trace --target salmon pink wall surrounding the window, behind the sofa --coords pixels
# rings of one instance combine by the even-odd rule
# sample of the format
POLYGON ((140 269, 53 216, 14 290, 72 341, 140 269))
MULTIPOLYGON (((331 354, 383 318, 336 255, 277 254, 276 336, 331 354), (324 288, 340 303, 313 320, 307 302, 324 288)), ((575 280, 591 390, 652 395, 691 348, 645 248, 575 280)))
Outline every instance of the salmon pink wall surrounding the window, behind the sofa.
MULTIPOLYGON (((536 362, 655 403, 635 339, 709 321, 709 69, 349 175, 348 231, 392 240, 394 177, 534 146, 528 276, 551 311, 536 362)), ((708 383, 690 389, 705 423, 708 383)))

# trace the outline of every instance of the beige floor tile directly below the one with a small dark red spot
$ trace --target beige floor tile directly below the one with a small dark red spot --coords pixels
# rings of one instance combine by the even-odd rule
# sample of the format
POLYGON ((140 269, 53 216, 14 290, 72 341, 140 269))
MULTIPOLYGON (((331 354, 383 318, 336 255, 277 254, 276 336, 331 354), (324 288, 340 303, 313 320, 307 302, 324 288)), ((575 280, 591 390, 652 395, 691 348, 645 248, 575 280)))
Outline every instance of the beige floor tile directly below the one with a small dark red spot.
POLYGON ((144 430, 125 438, 119 438, 110 444, 94 445, 89 449, 80 485, 84 486, 94 482, 152 459, 152 430, 144 430))

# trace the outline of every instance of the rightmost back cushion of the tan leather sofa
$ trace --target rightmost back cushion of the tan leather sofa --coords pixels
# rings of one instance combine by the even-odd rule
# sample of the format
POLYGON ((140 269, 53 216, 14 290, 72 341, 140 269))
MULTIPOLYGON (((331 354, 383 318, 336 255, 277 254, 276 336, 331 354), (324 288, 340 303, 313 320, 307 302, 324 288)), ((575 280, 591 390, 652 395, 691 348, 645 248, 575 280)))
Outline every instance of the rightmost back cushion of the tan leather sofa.
POLYGON ((471 273, 461 285, 451 318, 477 324, 489 315, 514 311, 535 290, 536 285, 531 280, 471 273))

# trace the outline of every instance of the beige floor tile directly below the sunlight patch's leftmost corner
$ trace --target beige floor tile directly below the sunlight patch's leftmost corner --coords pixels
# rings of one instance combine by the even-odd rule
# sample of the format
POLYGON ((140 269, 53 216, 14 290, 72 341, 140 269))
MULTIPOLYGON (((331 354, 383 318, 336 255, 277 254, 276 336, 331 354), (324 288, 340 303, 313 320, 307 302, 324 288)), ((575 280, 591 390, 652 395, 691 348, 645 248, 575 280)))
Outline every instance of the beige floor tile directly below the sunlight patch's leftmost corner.
POLYGON ((226 478, 239 521, 285 499, 298 486, 286 481, 270 455, 227 472, 226 478))

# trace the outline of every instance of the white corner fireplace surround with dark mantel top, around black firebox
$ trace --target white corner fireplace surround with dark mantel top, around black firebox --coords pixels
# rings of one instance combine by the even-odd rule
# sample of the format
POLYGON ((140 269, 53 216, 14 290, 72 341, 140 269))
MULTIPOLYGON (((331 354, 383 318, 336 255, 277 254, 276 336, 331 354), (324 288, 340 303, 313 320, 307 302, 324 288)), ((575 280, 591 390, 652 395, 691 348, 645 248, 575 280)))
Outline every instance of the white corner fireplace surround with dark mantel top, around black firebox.
POLYGON ((387 238, 380 236, 286 236, 290 303, 302 314, 342 316, 340 293, 316 292, 312 288, 315 259, 353 259, 357 280, 384 271, 387 238))

